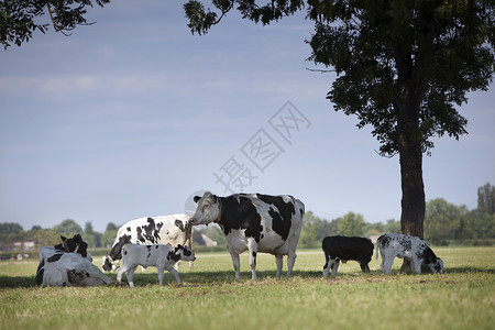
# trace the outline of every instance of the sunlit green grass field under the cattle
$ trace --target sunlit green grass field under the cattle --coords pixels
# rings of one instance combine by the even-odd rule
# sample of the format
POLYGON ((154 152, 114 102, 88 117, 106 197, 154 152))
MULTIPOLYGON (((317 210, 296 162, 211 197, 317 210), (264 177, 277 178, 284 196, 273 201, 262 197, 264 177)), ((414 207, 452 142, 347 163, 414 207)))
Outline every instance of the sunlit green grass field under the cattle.
MULTIPOLYGON (((248 254, 241 280, 230 255, 198 253, 180 265, 182 287, 156 268, 134 275, 135 288, 40 288, 37 261, 0 263, 0 329, 494 329, 495 248, 437 248, 444 274, 380 272, 358 263, 323 278, 320 251, 298 251, 292 278, 275 278, 275 258, 258 254, 252 282, 248 254)), ((285 262, 285 260, 284 260, 285 262)), ((100 266, 100 258, 95 260, 100 266)), ((112 278, 116 274, 110 274, 112 278)))

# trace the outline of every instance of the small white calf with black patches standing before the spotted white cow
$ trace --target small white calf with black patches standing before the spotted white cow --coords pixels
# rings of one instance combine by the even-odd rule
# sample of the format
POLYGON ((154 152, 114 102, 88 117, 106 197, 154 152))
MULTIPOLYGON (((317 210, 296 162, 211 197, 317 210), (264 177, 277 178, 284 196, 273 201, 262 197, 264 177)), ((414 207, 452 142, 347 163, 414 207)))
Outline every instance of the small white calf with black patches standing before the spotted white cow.
POLYGON ((122 248, 122 267, 119 268, 117 280, 121 282, 122 274, 125 273, 128 277, 129 286, 134 287, 134 272, 135 268, 141 265, 144 267, 156 266, 158 268, 158 282, 163 285, 164 271, 168 271, 175 276, 177 283, 180 285, 180 278, 174 265, 179 260, 195 261, 196 256, 189 246, 169 246, 162 244, 154 245, 139 245, 139 244, 125 244, 122 248))

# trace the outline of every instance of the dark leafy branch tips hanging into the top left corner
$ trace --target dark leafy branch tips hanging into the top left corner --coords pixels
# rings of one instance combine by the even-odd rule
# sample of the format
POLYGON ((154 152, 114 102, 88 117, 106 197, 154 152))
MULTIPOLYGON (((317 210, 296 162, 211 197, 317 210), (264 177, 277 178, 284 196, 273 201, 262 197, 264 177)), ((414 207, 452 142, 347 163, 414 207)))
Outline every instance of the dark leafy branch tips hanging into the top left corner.
POLYGON ((12 43, 21 46, 36 30, 45 33, 50 23, 56 32, 69 35, 86 21, 86 8, 94 3, 103 7, 110 0, 4 0, 0 1, 0 42, 7 50, 12 43), (44 20, 45 14, 48 20, 44 20))

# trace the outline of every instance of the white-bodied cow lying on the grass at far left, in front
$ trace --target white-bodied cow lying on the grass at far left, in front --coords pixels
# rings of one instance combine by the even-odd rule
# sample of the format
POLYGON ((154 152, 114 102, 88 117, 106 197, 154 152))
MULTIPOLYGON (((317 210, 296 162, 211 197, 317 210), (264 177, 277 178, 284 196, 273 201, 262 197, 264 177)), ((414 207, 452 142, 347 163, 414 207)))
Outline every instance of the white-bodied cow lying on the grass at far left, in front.
POLYGON ((97 286, 112 280, 88 256, 78 253, 43 246, 38 253, 40 265, 36 271, 36 284, 46 286, 97 286))

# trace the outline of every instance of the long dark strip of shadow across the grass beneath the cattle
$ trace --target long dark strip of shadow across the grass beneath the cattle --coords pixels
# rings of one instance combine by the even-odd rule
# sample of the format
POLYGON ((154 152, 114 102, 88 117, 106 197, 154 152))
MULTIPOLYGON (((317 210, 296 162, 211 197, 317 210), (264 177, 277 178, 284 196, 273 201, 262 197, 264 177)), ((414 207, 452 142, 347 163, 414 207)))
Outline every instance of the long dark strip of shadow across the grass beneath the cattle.
MULTIPOLYGON (((257 279, 275 279, 275 271, 258 271, 256 272, 257 279)), ((282 279, 286 278, 286 272, 282 272, 282 279)), ((476 267, 452 267, 447 268, 444 274, 495 274, 495 268, 476 268, 476 267)), ((117 273, 107 273, 111 279, 116 279, 117 273)), ((381 271, 371 271, 367 275, 369 277, 383 276, 381 271)), ((398 272, 393 272, 393 275, 409 275, 409 274, 398 274, 398 272)), ((415 274, 410 274, 415 275, 415 274)), ((241 282, 235 280, 233 271, 220 271, 220 272, 195 272, 190 271, 188 273, 180 273, 180 279, 185 283, 185 286, 195 285, 224 285, 224 284, 242 284, 245 280, 251 280, 251 271, 241 272, 241 282)), ((301 277, 308 279, 322 278, 321 272, 316 271, 294 271, 294 277, 301 277)), ((337 277, 356 277, 363 276, 361 272, 354 273, 339 273, 337 277)), ((441 275, 440 275, 441 276, 441 275)), ((331 275, 328 278, 333 278, 331 275)), ((127 282, 125 275, 122 277, 122 282, 127 282)), ((172 274, 165 272, 164 286, 177 286, 177 282, 172 274)), ((158 285, 157 273, 135 273, 134 274, 134 285, 146 286, 146 285, 158 285)), ((125 286, 125 285, 124 285, 125 286)), ((34 282, 34 276, 0 276, 0 289, 4 288, 33 288, 37 287, 34 282)))

